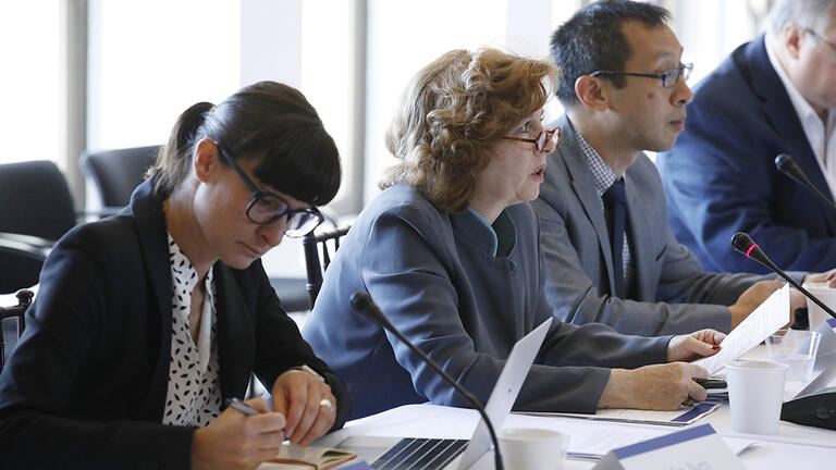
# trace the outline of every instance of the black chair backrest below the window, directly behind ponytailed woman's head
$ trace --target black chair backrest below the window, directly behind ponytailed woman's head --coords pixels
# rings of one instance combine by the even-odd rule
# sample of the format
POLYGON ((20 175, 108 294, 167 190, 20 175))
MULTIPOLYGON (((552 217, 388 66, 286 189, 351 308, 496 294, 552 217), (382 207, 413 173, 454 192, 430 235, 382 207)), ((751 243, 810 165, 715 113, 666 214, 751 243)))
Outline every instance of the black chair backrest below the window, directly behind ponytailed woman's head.
POLYGON ((131 194, 153 165, 159 150, 159 146, 149 146, 84 152, 82 170, 99 190, 103 207, 123 208, 131 202, 131 194))

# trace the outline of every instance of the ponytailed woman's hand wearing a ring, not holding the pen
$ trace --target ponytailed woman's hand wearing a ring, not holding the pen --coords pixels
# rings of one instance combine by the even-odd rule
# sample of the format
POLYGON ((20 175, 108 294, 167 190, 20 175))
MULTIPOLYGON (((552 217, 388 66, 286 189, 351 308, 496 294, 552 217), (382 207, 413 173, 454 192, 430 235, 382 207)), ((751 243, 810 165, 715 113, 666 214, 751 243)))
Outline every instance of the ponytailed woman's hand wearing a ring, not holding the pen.
POLYGON ((287 418, 291 444, 306 446, 334 425, 336 398, 322 379, 292 370, 279 375, 273 384, 273 410, 287 418), (322 405, 323 399, 331 406, 322 405))

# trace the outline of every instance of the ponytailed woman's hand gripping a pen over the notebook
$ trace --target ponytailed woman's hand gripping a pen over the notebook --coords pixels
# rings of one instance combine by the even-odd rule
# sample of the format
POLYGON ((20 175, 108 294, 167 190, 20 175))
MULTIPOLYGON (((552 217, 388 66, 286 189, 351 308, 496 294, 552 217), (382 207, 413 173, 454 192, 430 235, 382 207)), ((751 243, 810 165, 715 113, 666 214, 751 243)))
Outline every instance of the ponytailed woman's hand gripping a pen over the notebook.
POLYGON ((279 454, 284 441, 284 417, 271 412, 263 398, 246 404, 261 415, 245 416, 226 408, 211 424, 195 430, 190 452, 193 469, 250 470, 279 454))

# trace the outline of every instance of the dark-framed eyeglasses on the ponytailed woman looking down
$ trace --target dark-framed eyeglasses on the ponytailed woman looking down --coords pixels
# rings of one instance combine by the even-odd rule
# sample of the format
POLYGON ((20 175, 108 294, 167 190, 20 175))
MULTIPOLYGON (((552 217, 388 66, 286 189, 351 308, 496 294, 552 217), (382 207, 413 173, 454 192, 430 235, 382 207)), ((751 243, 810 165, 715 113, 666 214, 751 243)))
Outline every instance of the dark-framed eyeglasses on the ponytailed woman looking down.
POLYGON ((244 170, 235 163, 223 147, 214 143, 218 152, 226 160, 226 163, 235 170, 244 184, 253 191, 253 200, 247 205, 247 219, 259 225, 267 225, 287 215, 287 232, 285 235, 292 238, 305 236, 322 223, 324 218, 317 208, 291 209, 284 198, 274 193, 263 191, 253 183, 253 180, 244 173, 244 170))

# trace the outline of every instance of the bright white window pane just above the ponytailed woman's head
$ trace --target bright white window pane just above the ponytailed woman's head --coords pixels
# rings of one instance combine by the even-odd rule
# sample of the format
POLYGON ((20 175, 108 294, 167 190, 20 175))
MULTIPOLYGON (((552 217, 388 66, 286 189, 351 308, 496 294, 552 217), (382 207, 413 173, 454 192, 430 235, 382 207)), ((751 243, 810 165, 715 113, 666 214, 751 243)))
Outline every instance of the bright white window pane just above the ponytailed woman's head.
POLYGON ((238 89, 239 4, 89 0, 90 150, 162 144, 198 101, 238 89))

